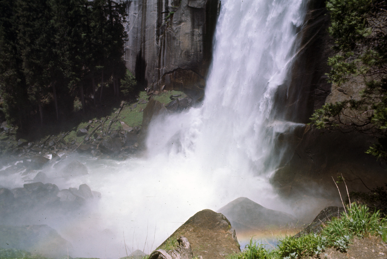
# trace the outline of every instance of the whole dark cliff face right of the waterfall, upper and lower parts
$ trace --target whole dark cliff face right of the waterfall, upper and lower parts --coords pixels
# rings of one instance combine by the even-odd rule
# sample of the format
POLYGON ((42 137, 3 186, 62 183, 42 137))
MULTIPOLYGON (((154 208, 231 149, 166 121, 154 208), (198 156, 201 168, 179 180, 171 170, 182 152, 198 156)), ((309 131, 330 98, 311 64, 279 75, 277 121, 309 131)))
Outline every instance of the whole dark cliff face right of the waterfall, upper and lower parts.
MULTIPOLYGON (((311 0, 308 5, 291 88, 282 97, 286 107, 290 107, 284 111, 287 112, 285 118, 299 123, 309 123, 313 111, 325 102, 358 97, 362 88, 360 84, 345 83, 337 87, 327 82, 325 73, 330 70, 327 60, 335 54, 331 48, 333 40, 327 32, 330 16, 324 0, 311 0)), ((292 145, 294 153, 289 154, 272 177, 283 195, 318 196, 326 198, 325 206, 330 206, 331 198, 338 194, 332 177, 336 180, 342 174, 345 179, 353 180, 348 185, 349 191, 367 191, 361 180, 368 187, 385 182, 385 168, 375 157, 365 153, 375 143, 372 136, 355 131, 344 134, 340 130, 316 130, 306 125, 293 135, 293 142, 288 141, 287 145, 292 145)), ((346 193, 345 189, 343 191, 346 193)))

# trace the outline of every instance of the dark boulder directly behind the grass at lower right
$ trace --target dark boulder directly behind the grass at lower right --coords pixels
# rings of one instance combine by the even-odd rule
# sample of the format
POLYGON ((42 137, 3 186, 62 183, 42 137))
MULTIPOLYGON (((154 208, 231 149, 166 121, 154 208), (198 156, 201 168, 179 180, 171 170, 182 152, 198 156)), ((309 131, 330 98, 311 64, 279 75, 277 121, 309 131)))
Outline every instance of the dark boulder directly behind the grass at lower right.
POLYGON ((329 206, 320 211, 319 215, 301 232, 294 235, 294 237, 301 237, 301 235, 308 235, 310 233, 320 233, 322 230, 321 225, 325 222, 332 220, 333 217, 340 218, 341 213, 344 212, 344 207, 329 206))

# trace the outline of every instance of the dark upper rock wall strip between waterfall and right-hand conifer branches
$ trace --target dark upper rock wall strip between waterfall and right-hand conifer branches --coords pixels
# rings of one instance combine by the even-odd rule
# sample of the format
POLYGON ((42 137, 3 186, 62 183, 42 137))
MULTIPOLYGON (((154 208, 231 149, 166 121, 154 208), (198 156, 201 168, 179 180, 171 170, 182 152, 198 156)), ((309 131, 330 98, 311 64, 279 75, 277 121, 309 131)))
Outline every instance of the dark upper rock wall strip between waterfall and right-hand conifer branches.
POLYGON ((333 53, 333 42, 328 27, 325 1, 310 0, 305 23, 299 28, 300 49, 293 61, 289 89, 283 87, 276 96, 276 102, 287 107, 281 118, 308 123, 313 110, 320 108, 330 93, 331 84, 326 81, 325 73, 330 69, 327 60, 333 53))

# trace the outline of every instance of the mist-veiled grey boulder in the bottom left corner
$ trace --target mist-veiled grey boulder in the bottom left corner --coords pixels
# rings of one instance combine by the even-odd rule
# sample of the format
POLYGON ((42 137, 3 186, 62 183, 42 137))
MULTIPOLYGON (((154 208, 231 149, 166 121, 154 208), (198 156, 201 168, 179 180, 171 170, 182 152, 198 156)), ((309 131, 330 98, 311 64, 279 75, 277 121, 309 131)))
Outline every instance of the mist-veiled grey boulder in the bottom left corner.
POLYGON ((48 258, 59 258, 67 255, 68 250, 71 252, 72 245, 47 225, 0 225, 0 248, 21 249, 48 258))

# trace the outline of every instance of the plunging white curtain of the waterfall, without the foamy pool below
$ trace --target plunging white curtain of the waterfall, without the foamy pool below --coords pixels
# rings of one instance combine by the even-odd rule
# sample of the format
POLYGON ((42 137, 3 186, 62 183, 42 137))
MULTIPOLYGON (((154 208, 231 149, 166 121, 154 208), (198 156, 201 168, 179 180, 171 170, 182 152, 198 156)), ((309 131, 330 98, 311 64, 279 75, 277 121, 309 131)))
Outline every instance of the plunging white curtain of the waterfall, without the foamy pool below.
POLYGON ((300 126, 284 121, 274 100, 289 88, 304 17, 301 0, 222 1, 204 102, 153 124, 151 157, 180 154, 202 170, 269 177, 284 153, 276 137, 300 126))

